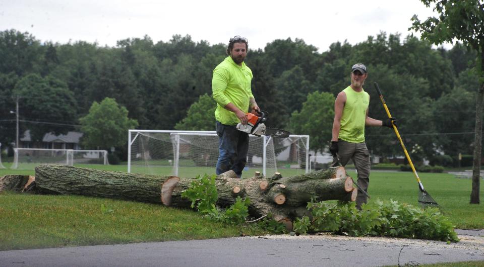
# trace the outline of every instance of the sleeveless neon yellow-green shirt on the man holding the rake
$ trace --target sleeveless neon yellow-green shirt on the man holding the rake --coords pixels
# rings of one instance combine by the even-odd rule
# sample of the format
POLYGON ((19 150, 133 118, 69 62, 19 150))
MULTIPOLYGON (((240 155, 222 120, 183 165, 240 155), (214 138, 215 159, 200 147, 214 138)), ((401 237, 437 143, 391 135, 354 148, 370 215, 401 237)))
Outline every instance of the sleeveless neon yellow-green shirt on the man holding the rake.
POLYGON ((343 92, 346 94, 346 102, 338 138, 350 143, 365 142, 365 120, 370 95, 365 90, 355 92, 351 86, 346 87, 343 92))

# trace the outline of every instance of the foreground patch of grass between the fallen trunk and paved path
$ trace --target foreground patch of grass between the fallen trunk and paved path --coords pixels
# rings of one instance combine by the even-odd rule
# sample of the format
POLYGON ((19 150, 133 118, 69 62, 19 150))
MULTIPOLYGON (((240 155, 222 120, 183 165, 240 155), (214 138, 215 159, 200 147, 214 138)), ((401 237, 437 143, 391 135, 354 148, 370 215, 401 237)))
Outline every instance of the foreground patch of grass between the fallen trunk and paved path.
POLYGON ((265 234, 192 210, 83 196, 0 193, 0 250, 265 234))

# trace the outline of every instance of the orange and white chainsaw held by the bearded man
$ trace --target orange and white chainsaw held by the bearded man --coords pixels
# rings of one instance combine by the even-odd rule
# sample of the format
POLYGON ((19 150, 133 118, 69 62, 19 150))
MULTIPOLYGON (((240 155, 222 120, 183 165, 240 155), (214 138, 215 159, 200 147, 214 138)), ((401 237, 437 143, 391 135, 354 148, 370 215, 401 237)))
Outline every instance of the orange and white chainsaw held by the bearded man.
POLYGON ((269 128, 263 123, 267 120, 266 113, 263 111, 257 111, 257 115, 252 113, 246 113, 248 123, 246 125, 238 123, 236 128, 239 131, 253 134, 256 136, 267 135, 272 137, 289 137, 289 132, 277 128, 269 128))

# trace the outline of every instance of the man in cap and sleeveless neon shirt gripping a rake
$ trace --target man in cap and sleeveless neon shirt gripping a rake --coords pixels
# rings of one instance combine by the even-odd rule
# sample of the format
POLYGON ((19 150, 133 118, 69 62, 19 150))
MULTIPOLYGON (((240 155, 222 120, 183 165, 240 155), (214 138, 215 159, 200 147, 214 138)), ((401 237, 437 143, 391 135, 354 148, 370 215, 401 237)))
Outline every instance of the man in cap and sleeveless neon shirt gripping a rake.
POLYGON ((368 117, 370 95, 363 90, 368 77, 367 67, 356 63, 351 67, 351 84, 341 91, 334 102, 333 135, 330 151, 333 154, 333 165, 346 165, 350 159, 358 173, 359 186, 356 197, 356 208, 367 203, 367 192, 370 183, 370 152, 365 144, 365 126, 386 126, 393 128, 395 118, 384 121, 368 117))

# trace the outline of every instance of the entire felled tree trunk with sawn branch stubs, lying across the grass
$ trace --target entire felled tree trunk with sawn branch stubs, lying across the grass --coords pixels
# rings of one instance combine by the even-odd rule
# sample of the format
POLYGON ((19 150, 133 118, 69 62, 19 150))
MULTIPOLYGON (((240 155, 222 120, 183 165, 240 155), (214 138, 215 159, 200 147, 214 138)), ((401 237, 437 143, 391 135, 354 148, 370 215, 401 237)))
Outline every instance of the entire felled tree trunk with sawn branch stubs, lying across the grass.
MULTIPOLYGON (((10 178, 10 188, 17 185, 24 187, 23 190, 40 194, 96 196, 180 208, 189 208, 191 205, 190 200, 181 198, 181 193, 190 187, 193 178, 180 179, 177 176, 64 165, 37 166, 35 181, 30 181, 29 185, 28 179, 22 177, 17 184, 10 178)), ((238 196, 249 198, 251 216, 257 218, 271 213, 274 219, 285 223, 288 229, 292 229, 294 218, 309 215, 306 205, 311 199, 355 201, 357 194, 351 177, 346 176, 343 167, 330 167, 291 177, 282 177, 278 172, 271 177, 264 177, 256 172, 251 179, 238 179, 233 171, 227 171, 216 177, 215 184, 218 206, 228 207, 238 196)))

